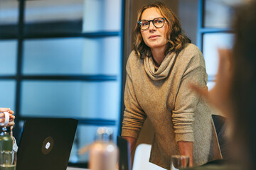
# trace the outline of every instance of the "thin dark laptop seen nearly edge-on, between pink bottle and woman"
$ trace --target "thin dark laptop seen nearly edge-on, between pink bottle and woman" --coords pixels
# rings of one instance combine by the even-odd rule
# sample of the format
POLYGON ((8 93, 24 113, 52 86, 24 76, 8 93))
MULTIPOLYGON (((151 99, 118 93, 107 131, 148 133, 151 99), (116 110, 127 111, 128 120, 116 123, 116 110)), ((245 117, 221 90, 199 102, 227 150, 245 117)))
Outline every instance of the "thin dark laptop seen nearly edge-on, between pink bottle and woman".
POLYGON ((117 136, 117 147, 119 148, 119 170, 132 170, 128 141, 117 136))

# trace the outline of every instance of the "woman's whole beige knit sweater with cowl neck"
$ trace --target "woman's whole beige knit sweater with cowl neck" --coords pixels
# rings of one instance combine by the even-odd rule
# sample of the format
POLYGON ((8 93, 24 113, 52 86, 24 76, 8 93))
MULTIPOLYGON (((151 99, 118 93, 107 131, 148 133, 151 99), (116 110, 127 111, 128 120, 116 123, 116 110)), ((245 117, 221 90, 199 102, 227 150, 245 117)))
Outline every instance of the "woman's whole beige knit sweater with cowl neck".
POLYGON ((193 164, 220 159, 213 126, 213 111, 188 85, 206 87, 206 66, 198 47, 188 44, 167 55, 159 68, 151 57, 133 51, 127 62, 122 136, 137 138, 146 116, 154 126, 150 162, 169 169, 172 154, 179 154, 178 141, 193 142, 193 164), (171 67, 173 68, 171 69, 171 67))

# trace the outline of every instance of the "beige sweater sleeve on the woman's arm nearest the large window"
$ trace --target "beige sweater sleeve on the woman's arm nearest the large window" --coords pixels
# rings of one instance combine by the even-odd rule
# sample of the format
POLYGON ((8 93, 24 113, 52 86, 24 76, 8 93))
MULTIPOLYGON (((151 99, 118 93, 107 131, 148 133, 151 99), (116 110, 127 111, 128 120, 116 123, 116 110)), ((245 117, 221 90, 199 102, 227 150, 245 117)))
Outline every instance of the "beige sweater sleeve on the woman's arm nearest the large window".
MULTIPOLYGON (((130 56, 131 57, 131 56, 130 56)), ((142 129, 146 114, 142 110, 137 101, 134 91, 134 84, 132 79, 132 72, 130 65, 131 59, 127 62, 127 79, 124 88, 124 119, 122 122, 122 136, 139 137, 139 132, 142 129)))

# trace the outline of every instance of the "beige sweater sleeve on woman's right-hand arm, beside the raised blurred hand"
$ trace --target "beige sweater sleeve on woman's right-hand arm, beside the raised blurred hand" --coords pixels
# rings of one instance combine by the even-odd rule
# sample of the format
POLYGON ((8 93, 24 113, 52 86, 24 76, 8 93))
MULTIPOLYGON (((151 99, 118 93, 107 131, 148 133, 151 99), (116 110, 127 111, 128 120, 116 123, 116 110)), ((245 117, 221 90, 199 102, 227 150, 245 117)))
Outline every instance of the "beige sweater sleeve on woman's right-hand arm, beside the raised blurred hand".
POLYGON ((184 72, 176 94, 174 111, 172 113, 176 142, 193 142, 194 114, 196 113, 196 108, 201 97, 190 89, 189 85, 196 84, 206 87, 208 79, 201 52, 198 50, 198 52, 194 52, 193 56, 189 58, 190 60, 185 62, 187 64, 183 66, 184 72))

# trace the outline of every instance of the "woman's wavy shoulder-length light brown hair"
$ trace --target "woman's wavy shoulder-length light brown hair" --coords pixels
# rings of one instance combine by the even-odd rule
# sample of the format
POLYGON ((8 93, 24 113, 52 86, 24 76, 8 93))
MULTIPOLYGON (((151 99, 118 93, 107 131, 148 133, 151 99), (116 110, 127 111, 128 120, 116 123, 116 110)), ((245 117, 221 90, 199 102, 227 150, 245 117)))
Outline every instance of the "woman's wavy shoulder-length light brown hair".
MULTIPOLYGON (((183 34, 183 31, 181 29, 181 24, 178 21, 178 18, 175 16, 174 12, 171 11, 170 8, 168 8, 165 4, 161 2, 154 2, 151 4, 147 4, 145 6, 142 6, 139 9, 137 22, 141 21, 142 19, 142 13, 147 8, 158 8, 161 15, 166 18, 164 22, 165 24, 168 24, 169 29, 166 32, 166 38, 168 38, 167 47, 165 55, 167 55, 169 52, 176 52, 176 56, 178 56, 178 53, 181 52, 183 47, 190 43, 191 40, 183 34)), ((134 42, 132 45, 132 50, 136 52, 136 54, 139 57, 151 57, 151 50, 150 47, 148 47, 141 34, 141 29, 139 28, 139 24, 137 24, 134 28, 134 42)))

